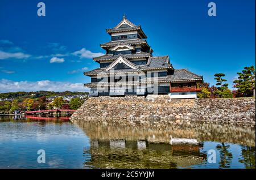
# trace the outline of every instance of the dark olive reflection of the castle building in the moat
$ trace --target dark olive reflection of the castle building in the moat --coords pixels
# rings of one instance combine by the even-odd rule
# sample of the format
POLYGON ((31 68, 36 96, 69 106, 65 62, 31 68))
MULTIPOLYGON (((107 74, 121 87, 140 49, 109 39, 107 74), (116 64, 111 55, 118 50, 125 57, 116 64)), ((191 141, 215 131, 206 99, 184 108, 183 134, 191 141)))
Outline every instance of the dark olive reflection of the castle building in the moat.
POLYGON ((144 143, 145 146, 140 147, 137 141, 115 140, 112 144, 92 140, 91 159, 85 165, 91 168, 185 168, 204 162, 207 157, 200 152, 203 144, 187 144, 184 148, 184 145, 144 143))

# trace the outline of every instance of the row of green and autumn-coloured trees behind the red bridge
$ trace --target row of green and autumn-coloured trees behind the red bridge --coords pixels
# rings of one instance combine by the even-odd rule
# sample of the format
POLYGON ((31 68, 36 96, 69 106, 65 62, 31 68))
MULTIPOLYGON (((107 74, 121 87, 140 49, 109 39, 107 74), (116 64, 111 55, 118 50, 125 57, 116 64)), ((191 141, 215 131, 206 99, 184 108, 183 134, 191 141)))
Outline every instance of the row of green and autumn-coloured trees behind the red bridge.
POLYGON ((56 97, 53 101, 48 101, 45 96, 36 99, 24 98, 23 101, 14 99, 12 101, 0 101, 0 114, 24 113, 30 110, 45 109, 78 109, 85 99, 72 98, 66 101, 63 97, 56 97))

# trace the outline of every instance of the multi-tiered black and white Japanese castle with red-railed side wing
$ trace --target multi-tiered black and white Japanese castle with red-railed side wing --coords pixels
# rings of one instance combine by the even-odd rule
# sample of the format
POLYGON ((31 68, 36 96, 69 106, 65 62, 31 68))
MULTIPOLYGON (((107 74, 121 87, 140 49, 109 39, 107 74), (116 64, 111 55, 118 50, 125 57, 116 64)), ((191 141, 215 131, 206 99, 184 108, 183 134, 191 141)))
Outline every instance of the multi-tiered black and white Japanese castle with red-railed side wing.
POLYGON ((100 68, 84 72, 91 77, 89 96, 147 96, 168 94, 171 98, 196 98, 203 76, 175 69, 168 55, 153 57, 140 25, 125 16, 111 29, 111 41, 101 44, 106 54, 93 58, 100 68))

